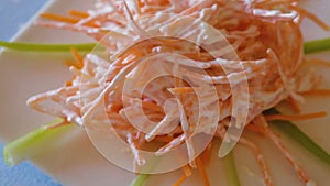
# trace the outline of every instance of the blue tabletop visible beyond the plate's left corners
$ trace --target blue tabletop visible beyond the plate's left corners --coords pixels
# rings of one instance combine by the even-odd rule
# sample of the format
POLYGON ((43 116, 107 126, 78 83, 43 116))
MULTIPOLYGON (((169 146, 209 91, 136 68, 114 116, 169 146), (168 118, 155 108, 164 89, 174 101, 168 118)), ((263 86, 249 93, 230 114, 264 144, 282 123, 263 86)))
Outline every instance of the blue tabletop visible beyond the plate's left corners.
MULTIPOLYGON (((1 0, 0 40, 9 41, 47 0, 1 0)), ((61 186, 31 163, 9 167, 2 157, 0 142, 0 186, 61 186)))

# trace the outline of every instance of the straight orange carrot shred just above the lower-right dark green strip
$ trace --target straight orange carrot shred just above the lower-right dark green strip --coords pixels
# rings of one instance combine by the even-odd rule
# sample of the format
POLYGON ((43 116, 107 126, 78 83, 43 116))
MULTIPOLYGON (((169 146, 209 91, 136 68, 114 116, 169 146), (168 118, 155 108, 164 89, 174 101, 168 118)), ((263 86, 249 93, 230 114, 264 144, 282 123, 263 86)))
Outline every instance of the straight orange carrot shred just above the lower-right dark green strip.
POLYGON ((311 120, 316 118, 326 117, 327 112, 315 112, 315 113, 307 113, 307 114, 298 114, 298 116, 288 116, 288 114, 268 114, 265 116, 266 120, 288 120, 288 121, 299 121, 299 120, 311 120))

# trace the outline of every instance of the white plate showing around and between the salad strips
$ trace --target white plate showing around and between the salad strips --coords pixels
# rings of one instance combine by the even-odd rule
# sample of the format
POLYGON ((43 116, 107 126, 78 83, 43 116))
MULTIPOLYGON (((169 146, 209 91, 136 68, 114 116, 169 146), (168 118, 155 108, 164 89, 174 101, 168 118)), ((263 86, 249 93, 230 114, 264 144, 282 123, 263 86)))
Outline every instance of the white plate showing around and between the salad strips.
MULTIPOLYGON (((330 24, 330 1, 304 1, 304 4, 316 12, 317 15, 330 24)), ((65 13, 68 9, 90 8, 88 0, 57 0, 50 3, 47 12, 65 13)), ((320 39, 330 36, 317 29, 310 21, 306 21, 304 26, 305 37, 320 39)), ((45 29, 30 25, 15 39, 16 41, 63 43, 63 42, 82 42, 89 41, 86 36, 68 31, 45 29)), ((329 53, 320 54, 323 58, 329 57, 329 53)), ((67 78, 69 73, 64 61, 69 58, 66 54, 28 54, 12 51, 4 51, 0 56, 0 140, 9 142, 22 134, 52 120, 47 117, 25 106, 26 99, 37 92, 56 88, 67 78)), ((320 73, 327 74, 329 69, 322 69, 320 73)), ((328 73, 329 74, 329 73, 328 73)), ((330 85, 330 77, 323 86, 330 85)), ((315 98, 308 99, 302 106, 304 111, 327 110, 330 111, 330 99, 315 98)), ((330 152, 330 118, 312 120, 299 123, 299 128, 308 133, 316 142, 330 152)), ((282 136, 289 146, 295 157, 305 167, 308 175, 320 186, 329 185, 330 166, 323 164, 314 155, 292 141, 282 136)), ((271 168, 275 185, 302 185, 293 168, 285 162, 276 147, 263 136, 253 136, 254 141, 265 153, 267 164, 271 168)), ((255 158, 245 146, 235 149, 235 160, 238 163, 239 176, 243 186, 262 185, 260 171, 255 164, 255 158)), ((51 152, 38 155, 33 160, 36 166, 40 166, 48 175, 66 186, 90 186, 90 185, 129 185, 134 175, 107 162, 90 144, 82 130, 76 130, 63 146, 51 152)), ((212 156, 212 164, 209 166, 209 175, 212 185, 227 185, 221 161, 212 156), (218 168, 217 168, 218 167, 218 168)), ((170 185, 180 175, 172 173, 170 175, 152 176, 148 185, 170 185)), ((199 174, 194 174, 185 185, 200 185, 199 174), (194 183, 194 184, 193 184, 194 183)))

